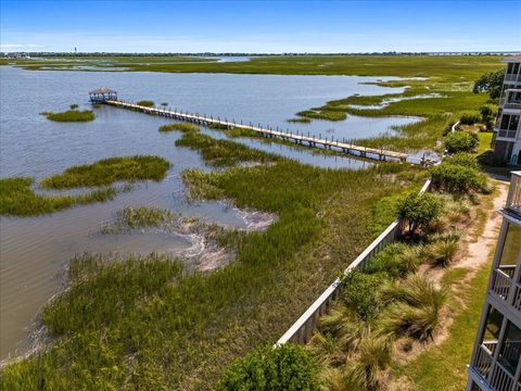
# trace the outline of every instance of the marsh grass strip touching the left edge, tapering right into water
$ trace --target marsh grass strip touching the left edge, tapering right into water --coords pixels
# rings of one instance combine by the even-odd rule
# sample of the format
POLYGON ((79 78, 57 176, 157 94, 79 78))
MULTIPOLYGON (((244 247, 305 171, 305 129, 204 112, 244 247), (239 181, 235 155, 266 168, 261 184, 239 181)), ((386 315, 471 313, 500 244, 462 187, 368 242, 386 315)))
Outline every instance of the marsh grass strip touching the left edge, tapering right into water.
POLYGON ((36 216, 58 212, 74 205, 112 200, 116 190, 112 187, 76 195, 40 195, 31 189, 33 178, 13 177, 0 179, 0 215, 36 216))

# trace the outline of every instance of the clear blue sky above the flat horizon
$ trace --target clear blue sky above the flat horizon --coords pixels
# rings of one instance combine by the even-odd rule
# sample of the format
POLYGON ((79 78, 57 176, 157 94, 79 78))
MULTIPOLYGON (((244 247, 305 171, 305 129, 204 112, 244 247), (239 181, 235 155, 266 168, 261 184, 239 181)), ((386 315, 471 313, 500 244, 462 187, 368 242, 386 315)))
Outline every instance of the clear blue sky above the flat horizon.
POLYGON ((521 0, 0 0, 0 51, 520 51, 516 15, 521 0))

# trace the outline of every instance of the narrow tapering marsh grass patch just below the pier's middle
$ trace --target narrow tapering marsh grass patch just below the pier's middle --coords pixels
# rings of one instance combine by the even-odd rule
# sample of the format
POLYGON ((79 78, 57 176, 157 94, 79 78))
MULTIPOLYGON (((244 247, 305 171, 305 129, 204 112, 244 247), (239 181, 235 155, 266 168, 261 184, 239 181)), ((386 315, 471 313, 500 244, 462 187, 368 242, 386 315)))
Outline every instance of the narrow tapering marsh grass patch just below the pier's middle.
POLYGON ((188 147, 201 153, 206 164, 214 167, 233 166, 239 163, 268 163, 281 160, 276 154, 247 148, 230 140, 216 140, 209 136, 186 133, 176 140, 177 147, 188 147))

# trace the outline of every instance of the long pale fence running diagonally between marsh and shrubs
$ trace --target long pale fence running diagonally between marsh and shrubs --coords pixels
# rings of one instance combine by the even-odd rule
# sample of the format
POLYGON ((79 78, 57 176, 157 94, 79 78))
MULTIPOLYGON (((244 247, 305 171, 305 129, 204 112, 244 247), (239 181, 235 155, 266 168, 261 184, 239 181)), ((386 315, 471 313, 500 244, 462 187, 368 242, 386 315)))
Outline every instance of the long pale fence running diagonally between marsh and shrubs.
MULTIPOLYGON (((420 190, 423 193, 431 187, 431 180, 428 179, 420 190)), ((380 236, 369 244, 360 255, 356 257, 353 263, 344 270, 344 276, 355 269, 364 269, 367 263, 384 247, 396 241, 399 231, 403 229, 405 222, 396 219, 392 223, 380 236)), ((276 346, 284 344, 287 342, 305 343, 313 331, 315 330, 318 320, 321 315, 326 313, 326 310, 332 299, 338 293, 341 286, 341 278, 336 278, 322 294, 301 315, 298 319, 280 337, 276 346)))

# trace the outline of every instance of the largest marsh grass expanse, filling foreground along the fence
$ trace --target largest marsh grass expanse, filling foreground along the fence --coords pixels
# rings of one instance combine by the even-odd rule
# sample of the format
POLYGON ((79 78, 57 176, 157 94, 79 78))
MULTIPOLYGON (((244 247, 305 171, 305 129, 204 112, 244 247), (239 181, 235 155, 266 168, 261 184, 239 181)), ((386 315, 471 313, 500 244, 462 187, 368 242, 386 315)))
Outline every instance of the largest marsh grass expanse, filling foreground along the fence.
MULTIPOLYGON (((237 148, 212 142, 225 154, 237 148)), ((211 189, 203 186, 201 198, 279 218, 244 235, 236 260, 213 273, 185 274, 157 255, 74 261, 71 288, 43 312, 54 343, 5 367, 2 386, 211 389, 233 358, 274 343, 369 243, 371 206, 404 186, 386 179, 390 169, 396 168, 322 169, 280 160, 191 171, 211 189)))

